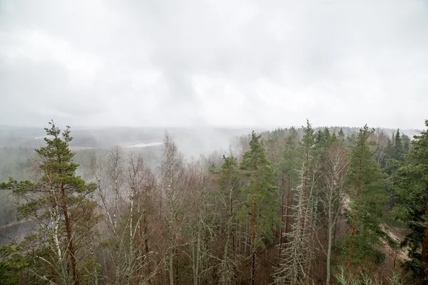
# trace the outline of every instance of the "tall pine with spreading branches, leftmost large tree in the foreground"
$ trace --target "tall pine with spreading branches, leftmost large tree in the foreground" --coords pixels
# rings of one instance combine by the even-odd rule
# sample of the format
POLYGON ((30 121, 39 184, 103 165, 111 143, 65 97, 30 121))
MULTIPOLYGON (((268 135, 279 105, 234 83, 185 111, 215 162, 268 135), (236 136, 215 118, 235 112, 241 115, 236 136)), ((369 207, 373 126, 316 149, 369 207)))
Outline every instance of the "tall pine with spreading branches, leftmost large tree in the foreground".
POLYGON ((38 249, 46 254, 37 256, 37 259, 51 268, 51 276, 39 274, 43 272, 40 269, 34 269, 34 273, 54 283, 91 283, 88 280, 97 277, 91 230, 98 222, 98 215, 96 202, 88 198, 96 185, 86 184, 76 176, 75 154, 68 148, 73 140, 70 128, 61 133, 53 121, 49 124, 51 128, 45 128, 46 146, 36 149, 36 181, 10 179, 0 188, 13 189, 13 195, 19 201, 20 217, 38 224, 38 249))

